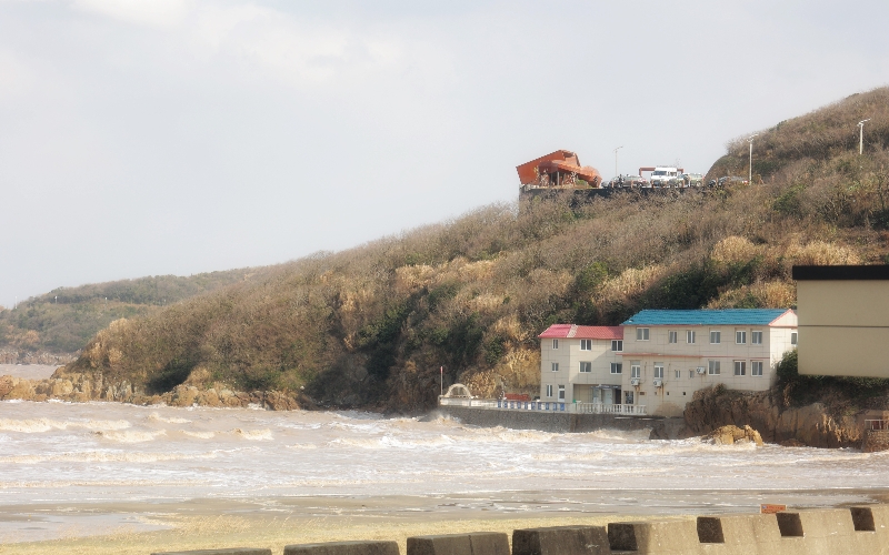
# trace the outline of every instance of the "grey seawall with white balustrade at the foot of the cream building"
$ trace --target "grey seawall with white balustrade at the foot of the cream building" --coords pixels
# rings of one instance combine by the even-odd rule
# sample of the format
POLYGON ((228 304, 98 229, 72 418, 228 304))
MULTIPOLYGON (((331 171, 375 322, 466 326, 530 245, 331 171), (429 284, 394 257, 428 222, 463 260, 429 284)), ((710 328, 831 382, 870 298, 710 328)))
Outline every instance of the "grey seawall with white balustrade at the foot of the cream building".
POLYGON ((586 433, 597 430, 650 431, 652 440, 683 437, 682 418, 659 416, 621 416, 615 414, 573 414, 562 412, 439 406, 438 411, 472 426, 503 426, 512 430, 538 430, 555 433, 586 433))

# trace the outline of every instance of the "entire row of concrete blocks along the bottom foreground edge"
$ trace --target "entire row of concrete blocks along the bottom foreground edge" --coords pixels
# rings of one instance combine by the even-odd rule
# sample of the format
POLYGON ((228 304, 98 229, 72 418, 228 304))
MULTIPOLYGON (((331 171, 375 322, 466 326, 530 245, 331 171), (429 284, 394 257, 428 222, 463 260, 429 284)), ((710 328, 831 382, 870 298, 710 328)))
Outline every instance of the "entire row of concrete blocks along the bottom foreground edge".
MULTIPOLYGON (((889 505, 409 537, 407 555, 889 555, 889 505)), ((271 555, 207 549, 192 555, 271 555)), ((152 554, 162 555, 162 554, 152 554)), ((170 554, 166 554, 170 555, 170 554)), ((396 542, 288 545, 284 555, 399 555, 396 542)))

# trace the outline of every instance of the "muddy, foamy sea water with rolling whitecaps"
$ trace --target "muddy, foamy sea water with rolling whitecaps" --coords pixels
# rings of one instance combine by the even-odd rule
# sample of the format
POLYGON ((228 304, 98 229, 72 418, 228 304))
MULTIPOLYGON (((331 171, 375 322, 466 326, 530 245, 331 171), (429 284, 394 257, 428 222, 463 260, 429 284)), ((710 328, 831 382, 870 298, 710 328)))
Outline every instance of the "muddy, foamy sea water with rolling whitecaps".
MULTIPOLYGON (((0 402, 0 511, 381 495, 404 496, 398 511, 428 498, 501 511, 825 506, 885 494, 887 463, 889 453, 482 428, 434 414, 0 402)), ((0 527, 23 528, 13 521, 0 527)))

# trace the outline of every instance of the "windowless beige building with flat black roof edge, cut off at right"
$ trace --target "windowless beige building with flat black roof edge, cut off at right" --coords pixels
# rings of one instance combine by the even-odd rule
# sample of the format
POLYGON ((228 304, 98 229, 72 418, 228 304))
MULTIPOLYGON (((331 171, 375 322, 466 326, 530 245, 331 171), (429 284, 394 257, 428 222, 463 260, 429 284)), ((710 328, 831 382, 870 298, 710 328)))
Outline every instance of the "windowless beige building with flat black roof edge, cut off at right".
POLYGON ((799 373, 889 377, 889 265, 793 266, 799 373))

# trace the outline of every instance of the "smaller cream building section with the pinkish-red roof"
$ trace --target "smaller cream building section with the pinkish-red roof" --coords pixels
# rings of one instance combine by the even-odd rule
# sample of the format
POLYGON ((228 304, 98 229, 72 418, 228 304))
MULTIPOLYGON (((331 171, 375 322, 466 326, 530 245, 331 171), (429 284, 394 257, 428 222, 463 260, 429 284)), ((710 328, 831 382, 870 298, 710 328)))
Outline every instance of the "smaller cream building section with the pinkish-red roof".
POLYGON ((620 404, 623 329, 553 324, 540 337, 540 401, 620 404))

